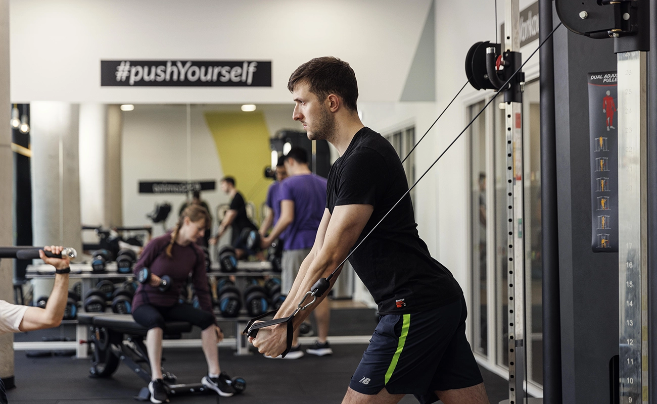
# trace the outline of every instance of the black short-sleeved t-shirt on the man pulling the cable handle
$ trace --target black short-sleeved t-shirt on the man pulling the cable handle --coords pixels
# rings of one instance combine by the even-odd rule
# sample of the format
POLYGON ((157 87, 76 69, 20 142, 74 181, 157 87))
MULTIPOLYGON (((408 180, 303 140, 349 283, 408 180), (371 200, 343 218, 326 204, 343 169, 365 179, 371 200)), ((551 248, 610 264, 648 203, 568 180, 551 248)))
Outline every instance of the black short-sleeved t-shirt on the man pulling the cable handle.
MULTIPOLYGON (((354 244, 357 246, 408 189, 395 149, 381 135, 363 127, 330 169, 327 208, 333 213, 339 205, 374 207, 354 244)), ((381 314, 434 309, 455 302, 463 294, 451 272, 430 256, 418 235, 410 194, 353 252, 349 261, 381 314)))

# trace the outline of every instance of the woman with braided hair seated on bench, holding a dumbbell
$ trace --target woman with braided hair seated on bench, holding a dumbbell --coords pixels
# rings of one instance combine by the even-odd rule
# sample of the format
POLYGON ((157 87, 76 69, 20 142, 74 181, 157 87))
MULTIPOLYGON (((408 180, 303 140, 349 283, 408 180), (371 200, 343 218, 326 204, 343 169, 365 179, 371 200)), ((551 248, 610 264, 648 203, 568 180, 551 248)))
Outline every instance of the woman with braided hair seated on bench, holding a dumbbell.
POLYGON ((223 340, 223 333, 212 311, 204 253, 196 245, 196 240, 202 238, 209 227, 208 211, 200 205, 188 206, 171 233, 150 240, 134 267, 135 274, 145 267, 152 274, 150 282, 139 285, 133 299, 135 321, 148 328, 146 346, 152 376, 148 390, 152 403, 162 403, 168 398, 162 380, 162 334, 166 321, 187 321, 201 328, 203 353, 208 361, 208 375, 201 380, 202 384, 223 397, 235 393, 227 380, 220 377, 217 342, 223 340), (178 302, 181 288, 190 274, 200 309, 178 302), (171 278, 171 284, 162 291, 160 277, 164 275, 171 278))

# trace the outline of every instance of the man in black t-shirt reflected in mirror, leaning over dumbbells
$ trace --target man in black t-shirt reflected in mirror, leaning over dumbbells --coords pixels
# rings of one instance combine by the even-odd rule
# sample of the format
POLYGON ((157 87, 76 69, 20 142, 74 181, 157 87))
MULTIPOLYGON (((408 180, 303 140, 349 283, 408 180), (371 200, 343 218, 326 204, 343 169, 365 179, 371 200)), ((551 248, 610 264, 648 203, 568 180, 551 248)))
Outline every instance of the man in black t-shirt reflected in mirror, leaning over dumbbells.
POLYGON ((231 198, 231 206, 223 216, 221 223, 219 223, 219 233, 210 240, 210 244, 216 244, 228 227, 231 227, 231 244, 235 247, 237 258, 242 259, 247 254, 246 246, 242 245, 240 241, 242 229, 258 230, 258 227, 246 215, 246 202, 244 202, 244 196, 235 188, 235 178, 223 177, 220 185, 221 191, 231 198))

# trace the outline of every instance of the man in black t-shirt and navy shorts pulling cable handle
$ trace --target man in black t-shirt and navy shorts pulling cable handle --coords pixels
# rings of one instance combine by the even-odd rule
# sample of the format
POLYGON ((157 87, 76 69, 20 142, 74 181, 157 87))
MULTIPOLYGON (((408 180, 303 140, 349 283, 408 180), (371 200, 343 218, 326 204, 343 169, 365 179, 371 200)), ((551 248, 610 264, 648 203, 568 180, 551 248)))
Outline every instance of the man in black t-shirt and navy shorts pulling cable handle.
MULTIPOLYGON (((290 316, 313 284, 372 231, 350 263, 382 317, 343 403, 397 403, 413 394, 423 404, 439 398, 445 404, 489 404, 465 336, 461 287, 418 235, 399 156, 358 118, 353 70, 338 58, 315 58, 292 73, 288 89, 296 103, 292 118, 304 125, 308 139, 329 141, 340 158, 328 175, 327 206, 315 244, 275 318, 290 316)), ((294 328, 310 309, 292 319, 294 328)), ((286 325, 260 328, 250 341, 261 353, 280 355, 286 349, 286 325)))

